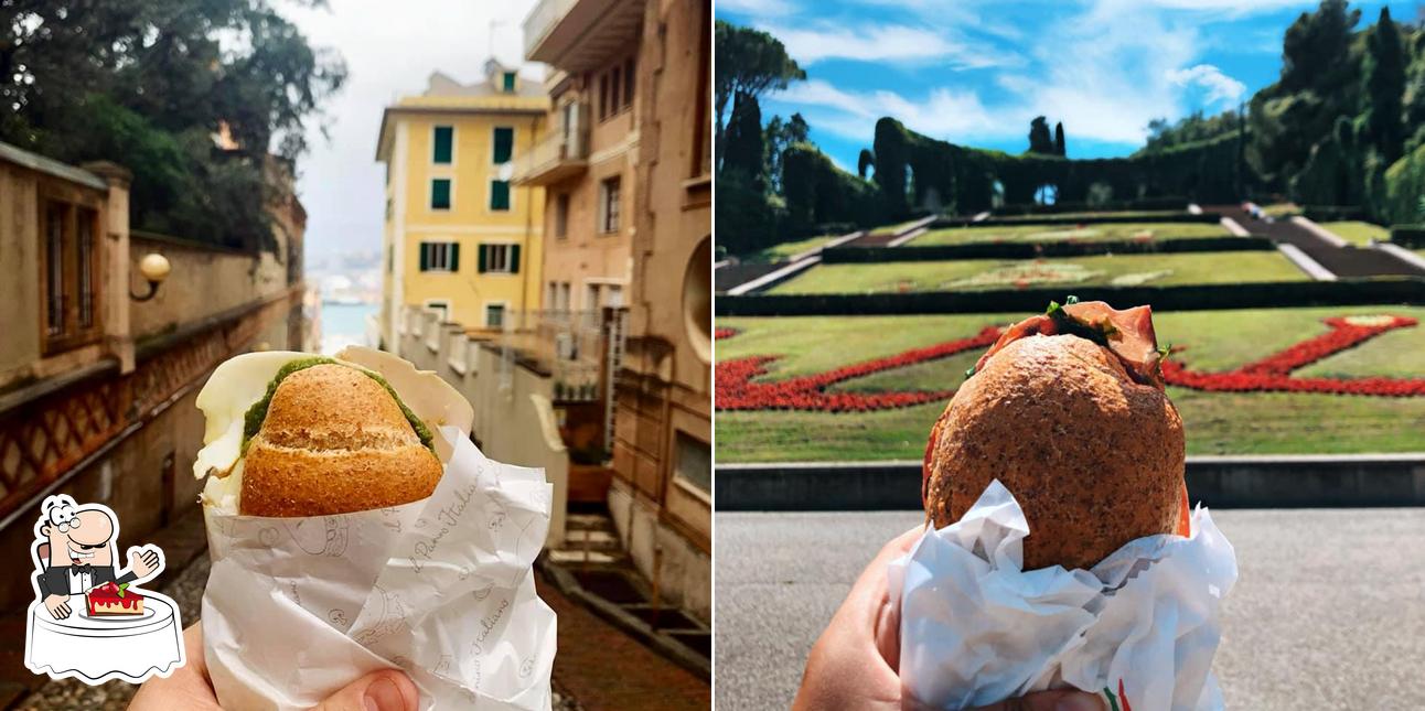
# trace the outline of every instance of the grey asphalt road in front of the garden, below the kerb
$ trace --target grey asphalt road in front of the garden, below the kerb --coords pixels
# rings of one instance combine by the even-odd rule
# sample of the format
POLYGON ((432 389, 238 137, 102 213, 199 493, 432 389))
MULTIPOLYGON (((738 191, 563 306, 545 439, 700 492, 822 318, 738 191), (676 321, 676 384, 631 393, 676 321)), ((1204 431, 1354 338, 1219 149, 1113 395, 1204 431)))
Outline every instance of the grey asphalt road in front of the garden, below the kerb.
MULTIPOLYGON (((1425 509, 1223 510, 1228 708, 1425 708, 1425 509)), ((717 516, 717 708, 787 708, 807 651, 916 512, 717 516)))

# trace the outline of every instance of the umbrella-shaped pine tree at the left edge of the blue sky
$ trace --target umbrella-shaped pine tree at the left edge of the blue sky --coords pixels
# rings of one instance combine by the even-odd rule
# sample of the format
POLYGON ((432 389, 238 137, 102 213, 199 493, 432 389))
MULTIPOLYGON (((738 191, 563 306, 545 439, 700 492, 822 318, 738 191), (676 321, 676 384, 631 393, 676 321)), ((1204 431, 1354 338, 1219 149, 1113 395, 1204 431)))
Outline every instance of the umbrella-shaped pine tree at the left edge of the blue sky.
MULTIPOLYGON (((717 76, 714 77, 714 110, 717 113, 717 162, 722 164, 722 138, 727 130, 724 111, 728 101, 742 95, 757 100, 768 90, 782 90, 791 81, 807 78, 797 61, 787 56, 787 47, 777 37, 751 27, 741 27, 718 20, 714 30, 714 54, 717 76)), ((732 118, 730 118, 731 121, 732 118)))

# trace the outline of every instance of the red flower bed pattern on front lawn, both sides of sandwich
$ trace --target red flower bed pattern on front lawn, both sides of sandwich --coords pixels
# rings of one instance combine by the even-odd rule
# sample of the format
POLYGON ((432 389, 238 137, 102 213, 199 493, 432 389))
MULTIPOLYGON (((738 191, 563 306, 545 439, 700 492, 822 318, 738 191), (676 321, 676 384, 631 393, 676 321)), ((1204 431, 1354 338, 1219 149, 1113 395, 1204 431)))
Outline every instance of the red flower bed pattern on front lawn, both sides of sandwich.
MULTIPOLYGON (((1197 372, 1190 370, 1177 359, 1168 359, 1163 362, 1163 378, 1168 385, 1207 392, 1307 392, 1379 398, 1425 396, 1425 379, 1419 378, 1292 378, 1291 372, 1298 368, 1355 348, 1388 331, 1415 326, 1416 321, 1404 316, 1381 316, 1374 319, 1330 318, 1325 319, 1325 323, 1331 326, 1331 331, 1327 333, 1302 341, 1261 360, 1243 365, 1235 370, 1218 373, 1197 372)), ((730 338, 735 333, 735 329, 718 329, 717 338, 730 338)), ((999 333, 1000 329, 990 326, 972 338, 948 341, 835 370, 772 382, 754 382, 754 379, 767 375, 768 363, 781 356, 751 356, 724 360, 717 363, 717 409, 868 412, 945 400, 955 395, 953 389, 851 393, 826 392, 826 388, 871 373, 948 358, 975 348, 986 348, 995 343, 999 333)))

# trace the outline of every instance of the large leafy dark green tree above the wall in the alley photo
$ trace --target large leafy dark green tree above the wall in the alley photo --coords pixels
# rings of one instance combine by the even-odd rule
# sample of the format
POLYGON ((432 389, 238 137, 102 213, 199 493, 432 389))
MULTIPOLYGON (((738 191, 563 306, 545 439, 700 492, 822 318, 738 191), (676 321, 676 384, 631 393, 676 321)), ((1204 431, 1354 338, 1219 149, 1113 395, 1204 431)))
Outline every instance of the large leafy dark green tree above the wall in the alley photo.
POLYGON ((268 154, 343 78, 266 0, 0 0, 0 141, 123 164, 133 222, 178 237, 269 248, 268 154))

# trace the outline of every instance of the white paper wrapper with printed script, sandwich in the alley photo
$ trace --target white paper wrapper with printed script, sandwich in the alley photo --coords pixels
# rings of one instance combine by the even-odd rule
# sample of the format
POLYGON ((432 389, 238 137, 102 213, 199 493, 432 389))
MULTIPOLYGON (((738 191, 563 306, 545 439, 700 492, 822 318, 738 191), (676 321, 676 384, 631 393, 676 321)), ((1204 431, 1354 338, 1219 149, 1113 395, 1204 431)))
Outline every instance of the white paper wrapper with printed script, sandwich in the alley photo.
POLYGON ((309 708, 399 667, 420 708, 550 708, 554 613, 532 566, 549 529, 542 469, 487 459, 456 427, 425 500, 304 519, 204 507, 204 653, 224 708, 309 708))

